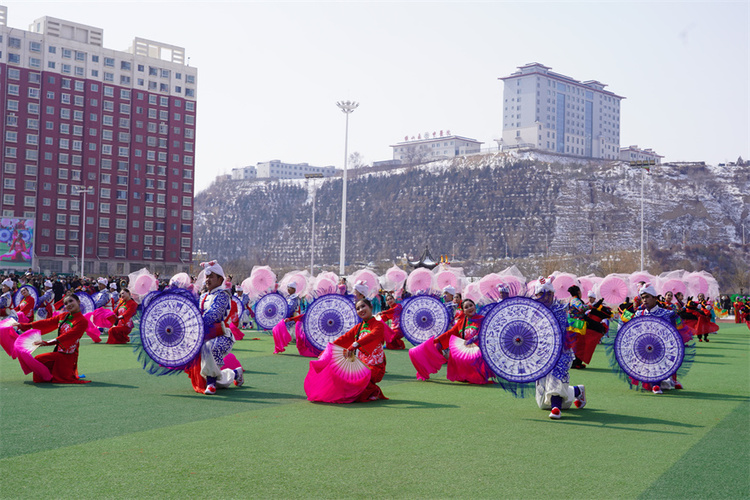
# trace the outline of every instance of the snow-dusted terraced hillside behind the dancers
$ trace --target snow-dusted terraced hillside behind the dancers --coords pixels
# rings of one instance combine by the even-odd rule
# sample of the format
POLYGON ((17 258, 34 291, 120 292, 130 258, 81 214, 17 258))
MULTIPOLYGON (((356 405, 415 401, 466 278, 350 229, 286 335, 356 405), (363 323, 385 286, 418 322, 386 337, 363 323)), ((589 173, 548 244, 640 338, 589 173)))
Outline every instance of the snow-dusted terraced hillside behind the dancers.
MULTIPOLYGON (((348 183, 347 264, 418 256, 456 260, 600 254, 647 243, 750 241, 750 167, 681 163, 645 175, 623 163, 497 153, 389 171, 348 183)), ((341 178, 316 181, 315 262, 337 266, 341 178)), ((195 249, 223 262, 305 268, 312 184, 221 181, 196 196, 195 249)))

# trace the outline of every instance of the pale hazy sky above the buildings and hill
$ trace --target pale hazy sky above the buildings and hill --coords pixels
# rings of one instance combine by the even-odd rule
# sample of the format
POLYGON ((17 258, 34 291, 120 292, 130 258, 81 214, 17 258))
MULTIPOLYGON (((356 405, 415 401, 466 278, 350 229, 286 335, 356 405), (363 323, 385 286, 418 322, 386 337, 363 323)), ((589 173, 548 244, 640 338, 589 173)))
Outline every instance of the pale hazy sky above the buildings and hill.
POLYGON ((503 83, 539 62, 626 99, 621 146, 665 161, 750 158, 750 2, 8 1, 8 25, 58 17, 186 49, 198 68, 196 193, 278 159, 392 158, 404 136, 450 130, 495 146, 503 83))

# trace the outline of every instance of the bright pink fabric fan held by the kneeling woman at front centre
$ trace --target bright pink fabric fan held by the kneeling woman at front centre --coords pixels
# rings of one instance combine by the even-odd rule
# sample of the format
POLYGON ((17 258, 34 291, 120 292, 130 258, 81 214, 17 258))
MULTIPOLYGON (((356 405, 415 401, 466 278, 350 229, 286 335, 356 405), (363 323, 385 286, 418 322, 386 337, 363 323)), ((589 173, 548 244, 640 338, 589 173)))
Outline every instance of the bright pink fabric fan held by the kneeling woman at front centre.
POLYGON ((370 383, 370 369, 356 356, 344 356, 344 348, 328 344, 316 360, 310 361, 305 377, 305 394, 310 401, 351 403, 370 383))

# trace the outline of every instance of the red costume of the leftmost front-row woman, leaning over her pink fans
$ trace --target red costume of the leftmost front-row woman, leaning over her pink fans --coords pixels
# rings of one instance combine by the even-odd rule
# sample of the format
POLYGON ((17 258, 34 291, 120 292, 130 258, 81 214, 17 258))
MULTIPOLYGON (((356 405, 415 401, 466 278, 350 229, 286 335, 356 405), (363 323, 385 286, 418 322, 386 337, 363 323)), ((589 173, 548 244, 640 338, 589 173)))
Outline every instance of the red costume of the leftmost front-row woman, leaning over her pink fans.
MULTIPOLYGON (((19 329, 26 331, 32 328, 39 330, 42 335, 59 330, 57 346, 54 352, 47 352, 35 356, 36 360, 45 365, 56 384, 86 384, 90 380, 78 378, 78 343, 86 332, 88 320, 80 312, 75 314, 61 314, 54 318, 42 319, 32 323, 19 325, 19 329)), ((34 382, 44 382, 34 374, 34 382)))

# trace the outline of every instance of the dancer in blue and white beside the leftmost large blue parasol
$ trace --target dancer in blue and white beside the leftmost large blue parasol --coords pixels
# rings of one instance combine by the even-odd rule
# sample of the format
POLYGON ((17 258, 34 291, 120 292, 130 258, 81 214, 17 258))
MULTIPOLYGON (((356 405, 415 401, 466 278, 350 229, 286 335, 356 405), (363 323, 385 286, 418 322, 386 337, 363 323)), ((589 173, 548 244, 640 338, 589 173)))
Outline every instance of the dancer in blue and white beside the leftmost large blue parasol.
POLYGON ((201 349, 200 362, 196 359, 187 371, 196 392, 216 394, 216 389, 226 389, 232 385, 240 387, 244 382, 242 367, 222 369, 224 356, 234 345, 232 332, 224 320, 229 316, 231 296, 224 288, 224 270, 215 261, 201 263, 206 274, 207 292, 200 298, 200 310, 206 331, 205 343, 201 349))

